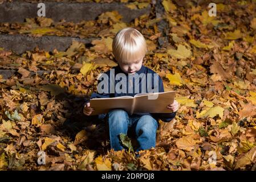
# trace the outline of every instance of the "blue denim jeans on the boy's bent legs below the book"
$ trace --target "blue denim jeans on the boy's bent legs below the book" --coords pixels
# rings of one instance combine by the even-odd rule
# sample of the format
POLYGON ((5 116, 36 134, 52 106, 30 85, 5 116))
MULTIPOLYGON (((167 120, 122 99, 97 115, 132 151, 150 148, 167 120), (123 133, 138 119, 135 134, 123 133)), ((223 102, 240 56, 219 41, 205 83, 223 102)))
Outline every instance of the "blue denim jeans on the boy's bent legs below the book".
POLYGON ((136 134, 139 147, 136 151, 156 146, 157 121, 151 115, 132 116, 123 109, 113 109, 108 113, 109 139, 113 150, 123 150, 119 134, 127 135, 128 129, 136 134))

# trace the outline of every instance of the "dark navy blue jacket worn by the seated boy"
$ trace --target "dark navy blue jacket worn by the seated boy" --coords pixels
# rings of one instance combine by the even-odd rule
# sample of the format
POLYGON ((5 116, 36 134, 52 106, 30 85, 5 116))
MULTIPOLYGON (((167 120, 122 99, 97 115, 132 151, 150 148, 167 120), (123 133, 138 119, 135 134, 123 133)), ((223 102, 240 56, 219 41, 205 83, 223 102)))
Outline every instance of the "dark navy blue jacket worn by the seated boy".
MULTIPOLYGON (((153 85, 153 82, 154 82, 154 74, 157 74, 156 72, 154 72, 152 69, 149 69, 149 68, 147 68, 147 67, 144 67, 144 65, 142 65, 142 67, 141 67, 141 69, 139 70, 139 71, 137 71, 136 73, 138 74, 137 75, 137 77, 138 77, 138 79, 139 80, 137 80, 137 82, 135 82, 135 80, 136 80, 136 77, 134 77, 133 78, 133 80, 132 80, 132 82, 133 82, 133 92, 132 93, 128 93, 128 82, 129 82, 129 80, 128 80, 128 74, 127 73, 124 73, 122 70, 121 70, 121 68, 119 67, 119 65, 117 65, 116 67, 113 67, 112 68, 113 70, 112 71, 114 71, 115 72, 115 77, 116 77, 116 75, 118 74, 118 73, 123 73, 125 76, 126 76, 126 78, 127 78, 127 92, 126 93, 116 93, 116 90, 113 90, 113 92, 114 93, 110 93, 109 91, 110 91, 110 81, 111 81, 111 79, 110 79, 110 73, 111 73, 111 71, 109 70, 109 71, 107 71, 107 72, 105 72, 105 74, 108 76, 108 92, 107 93, 99 93, 99 92, 97 92, 97 93, 92 93, 92 95, 91 95, 91 98, 104 98, 104 97, 121 97, 121 96, 135 96, 137 93, 135 93, 135 83, 138 83, 139 82, 139 93, 142 93, 141 92, 141 78, 139 77, 140 76, 140 74, 141 73, 145 73, 145 76, 147 77, 147 76, 152 76, 152 86, 158 86, 159 87, 159 91, 158 92, 164 92, 164 85, 162 84, 162 79, 160 78, 160 76, 159 75, 157 75, 157 78, 159 79, 159 81, 157 82, 158 84, 157 85, 153 85), (148 73, 151 73, 151 74, 148 74, 148 73)), ((115 79, 115 78, 114 78, 115 79)), ((121 80, 121 79, 120 79, 121 80)), ((117 82, 119 82, 120 80, 115 80, 115 85, 116 85, 116 83, 117 82)), ((100 79, 99 79, 99 82, 98 82, 98 84, 101 82, 101 81, 103 81, 102 79, 101 79, 101 77, 100 77, 100 79)), ((131 80, 130 80, 131 81, 131 80)), ((131 83, 131 82, 130 82, 131 83)), ((147 85, 147 84, 146 84, 147 85)), ((137 85, 136 85, 137 86, 137 85)), ((138 91, 138 90, 137 90, 138 91)), ((147 93, 149 92, 150 90, 148 90, 148 85, 147 85, 147 93)), ((156 106, 157 107, 157 106, 156 106)), ((105 115, 106 114, 99 114, 98 115, 98 117, 99 117, 99 119, 103 119, 104 117, 105 117, 105 115)), ((153 118, 155 118, 157 121, 159 120, 159 119, 161 119, 162 121, 164 121, 164 122, 170 122, 174 117, 175 117, 175 115, 176 115, 176 112, 173 112, 173 113, 136 113, 136 114, 133 114, 132 116, 138 116, 138 115, 151 115, 153 118)))

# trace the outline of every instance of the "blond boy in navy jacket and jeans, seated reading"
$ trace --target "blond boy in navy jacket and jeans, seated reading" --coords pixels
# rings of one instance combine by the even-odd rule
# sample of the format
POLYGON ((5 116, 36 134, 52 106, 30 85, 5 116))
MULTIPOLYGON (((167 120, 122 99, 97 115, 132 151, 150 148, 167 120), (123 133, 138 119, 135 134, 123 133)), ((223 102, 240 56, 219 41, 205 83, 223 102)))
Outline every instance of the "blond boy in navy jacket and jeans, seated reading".
MULTIPOLYGON (((112 44, 113 55, 117 60, 118 66, 114 67, 112 73, 115 73, 117 79, 112 82, 112 85, 116 86, 119 82, 125 82, 123 88, 120 88, 123 92, 103 92, 99 93, 101 88, 97 88, 97 93, 92 93, 91 98, 101 97, 120 97, 120 96, 135 96, 135 90, 139 90, 139 93, 143 93, 144 81, 152 77, 152 82, 156 83, 154 88, 157 88, 157 92, 164 92, 164 86, 161 78, 147 67, 143 65, 143 58, 147 52, 147 44, 145 38, 135 28, 123 28, 117 32, 112 44), (132 75, 132 79, 129 76, 132 75), (158 76, 157 79, 155 76, 158 76), (154 77, 153 77, 154 76, 154 77), (118 79, 121 77, 121 79, 118 79), (141 78, 141 79, 140 79, 141 78), (155 81, 154 81, 155 78, 155 81), (135 82, 139 84, 135 84, 135 82), (125 86, 127 85, 127 86, 125 86), (131 89, 131 85, 134 87, 131 89), (139 88, 139 89, 138 89, 139 88)), ((108 77, 111 77, 111 71, 105 73, 108 77)), ((107 85, 111 85, 111 79, 108 80, 107 85)), ((99 85, 99 84, 98 84, 99 85)), ((120 85, 120 83, 119 83, 120 85)), ((146 85, 151 85, 147 83, 146 85)), ((109 86, 110 87, 110 86, 109 86)), ((116 88, 116 87, 115 87, 116 88)), ((147 86, 144 92, 149 92, 152 88, 147 86)), ((157 106, 156 106, 157 107, 157 106)), ((109 139, 111 148, 113 150, 123 150, 121 146, 119 134, 127 134, 128 129, 131 129, 136 134, 137 143, 139 147, 136 151, 147 150, 156 145, 156 131, 159 125, 158 120, 161 119, 164 122, 171 121, 178 110, 178 102, 174 100, 173 104, 166 106, 170 109, 170 113, 136 113, 129 115, 127 111, 122 109, 113 109, 108 114, 100 114, 99 118, 107 117, 109 125, 109 139)), ((84 105, 83 113, 90 115, 94 111, 90 107, 90 102, 84 105)))

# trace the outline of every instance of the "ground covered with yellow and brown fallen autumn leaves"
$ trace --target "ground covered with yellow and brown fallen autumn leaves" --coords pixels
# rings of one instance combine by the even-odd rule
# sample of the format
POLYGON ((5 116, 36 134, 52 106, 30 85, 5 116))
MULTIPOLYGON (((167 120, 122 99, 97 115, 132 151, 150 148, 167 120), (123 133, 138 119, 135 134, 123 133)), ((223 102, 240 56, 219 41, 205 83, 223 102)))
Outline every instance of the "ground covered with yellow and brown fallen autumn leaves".
POLYGON ((86 46, 73 42, 66 52, 16 55, 0 48, 0 68, 17 71, 8 79, 0 75, 0 169, 256 169, 256 1, 216 1, 217 16, 210 17, 208 3, 168 0, 162 18, 153 2, 128 2, 132 9, 152 6, 131 23, 116 11, 80 23, 0 23, 2 34, 99 38, 86 46), (160 121, 157 147, 139 158, 109 150, 105 123, 82 114, 99 73, 116 65, 112 39, 127 26, 143 33, 144 65, 159 73, 166 91, 177 91, 180 103, 172 122, 160 121), (67 121, 74 125, 63 126, 67 121), (46 152, 46 165, 37 164, 39 151, 46 152))

